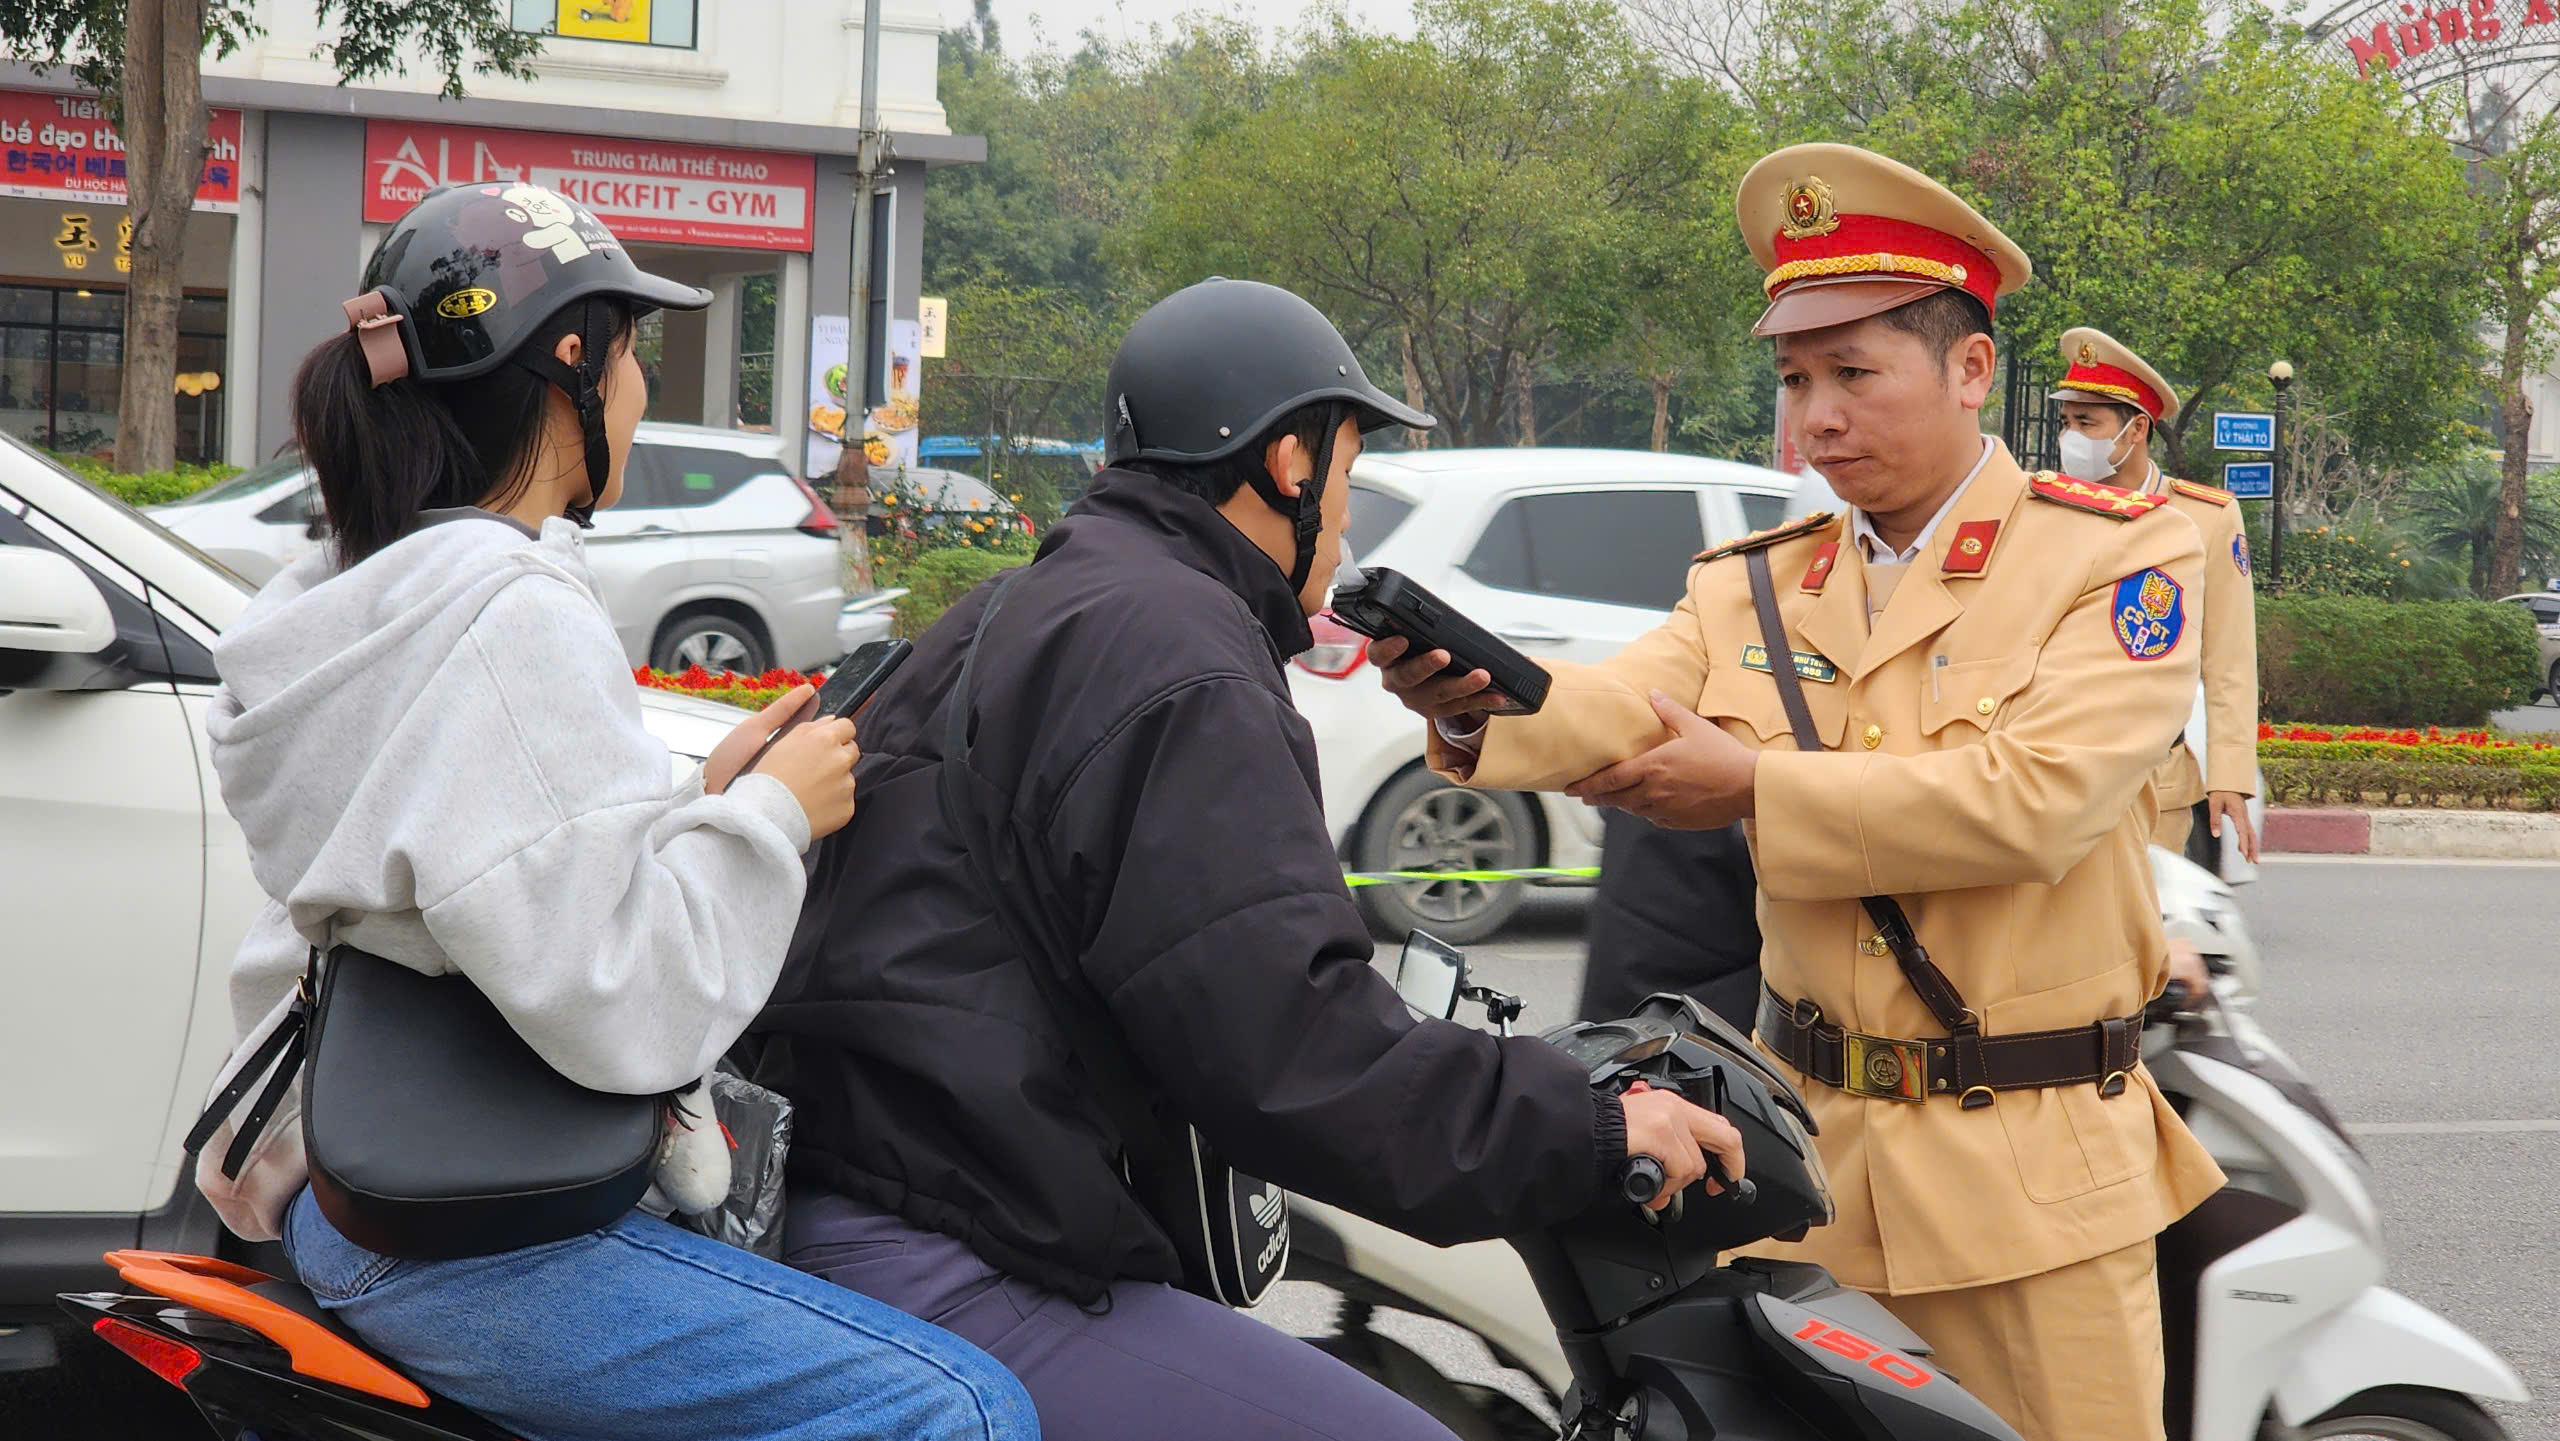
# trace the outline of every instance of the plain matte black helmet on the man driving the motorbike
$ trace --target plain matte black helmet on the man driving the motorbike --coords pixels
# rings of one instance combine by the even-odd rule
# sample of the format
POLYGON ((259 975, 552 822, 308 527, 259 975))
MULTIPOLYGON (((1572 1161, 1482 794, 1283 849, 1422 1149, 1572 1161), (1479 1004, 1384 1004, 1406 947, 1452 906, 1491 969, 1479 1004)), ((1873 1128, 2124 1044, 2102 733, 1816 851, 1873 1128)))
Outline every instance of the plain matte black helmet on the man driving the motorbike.
POLYGON ((1201 466, 1257 445, 1270 427, 1311 404, 1331 404, 1316 448, 1316 476, 1295 499, 1270 474, 1254 474, 1265 504, 1298 525, 1303 589, 1324 530, 1324 479, 1334 468, 1341 417, 1362 433, 1439 420, 1370 384, 1352 343, 1306 299, 1247 279, 1208 276, 1139 315, 1111 358, 1106 461, 1201 466))

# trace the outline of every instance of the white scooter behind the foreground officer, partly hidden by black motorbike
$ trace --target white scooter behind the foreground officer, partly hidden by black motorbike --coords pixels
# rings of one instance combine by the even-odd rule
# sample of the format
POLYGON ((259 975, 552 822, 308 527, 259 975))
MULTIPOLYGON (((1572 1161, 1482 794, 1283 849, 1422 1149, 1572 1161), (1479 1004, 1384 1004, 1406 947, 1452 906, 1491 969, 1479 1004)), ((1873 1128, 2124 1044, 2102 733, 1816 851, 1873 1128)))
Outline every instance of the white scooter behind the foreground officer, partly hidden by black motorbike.
MULTIPOLYGON (((2258 952, 2230 888, 2153 850, 2171 937, 2214 996, 2145 1029, 2143 1060, 2230 1185, 2161 1236, 2171 1441, 2506 1441, 2481 1400, 2527 1400, 2488 1346, 2383 1280, 2371 1172, 2250 1014, 2258 952)), ((1464 1441, 1554 1438, 1574 1377, 1521 1259, 1503 1244, 1428 1246, 1293 1198, 1293 1280, 1344 1298, 1316 1341, 1464 1441), (1377 1308, 1472 1331, 1544 1408, 1459 1382, 1382 1336, 1377 1308)), ((1958 1377, 1961 1380, 1961 1377, 1958 1377)))

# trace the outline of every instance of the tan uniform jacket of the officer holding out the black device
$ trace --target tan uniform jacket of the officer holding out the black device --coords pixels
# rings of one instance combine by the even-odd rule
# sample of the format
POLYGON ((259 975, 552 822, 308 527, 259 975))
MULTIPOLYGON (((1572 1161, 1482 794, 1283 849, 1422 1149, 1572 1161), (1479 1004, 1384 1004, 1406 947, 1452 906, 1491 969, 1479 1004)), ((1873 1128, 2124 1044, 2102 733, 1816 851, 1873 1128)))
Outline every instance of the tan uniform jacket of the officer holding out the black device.
MULTIPOLYGON (((2191 617, 2194 525, 2168 507, 2125 522, 2033 499, 1997 450, 1874 635, 1841 522, 1772 545, 1769 561, 1789 640, 1838 668, 1805 686, 1830 752, 1797 752, 1777 683, 1743 665, 1759 625, 1733 555, 1692 568, 1672 619, 1618 658, 1551 665, 1544 712, 1495 719, 1467 781, 1554 791, 1631 758, 1664 740, 1646 704, 1659 689, 1764 750, 1748 832, 1761 967, 1782 996, 1866 1034, 1940 1034, 1894 960, 1861 955, 1869 893, 1902 901, 1989 1034, 2132 1016, 2158 996, 2153 814, 2138 806, 2194 706, 2199 645, 2186 619, 2176 645, 2135 660, 2117 640, 2117 591, 2132 576, 2140 604, 2143 573, 2158 568, 2191 617), (1981 573, 1943 573, 1981 522, 1999 522, 1981 573), (1828 581, 1807 589, 1828 543, 1828 581)), ((1431 763, 1457 778, 1454 760, 1434 735, 1431 763)), ((1841 1216, 1784 1254, 1866 1290, 1953 1290, 2102 1257, 2222 1182, 2148 1072, 2115 1101, 2076 1085, 2002 1093, 1979 1111, 1953 1095, 1802 1090, 1841 1216)))

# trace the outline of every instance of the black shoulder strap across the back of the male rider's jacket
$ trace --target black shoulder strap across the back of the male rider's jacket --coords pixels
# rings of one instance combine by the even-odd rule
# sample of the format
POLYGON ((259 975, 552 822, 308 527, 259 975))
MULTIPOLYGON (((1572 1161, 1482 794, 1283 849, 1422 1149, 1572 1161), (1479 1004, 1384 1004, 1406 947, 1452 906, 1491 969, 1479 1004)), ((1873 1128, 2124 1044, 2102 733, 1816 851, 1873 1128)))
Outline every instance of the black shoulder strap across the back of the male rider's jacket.
POLYGON ((1039 998, 1057 1016, 1060 1031, 1068 1037, 1068 1047, 1075 1049, 1075 1060, 1085 1070, 1085 1080, 1093 1083, 1093 1095, 1101 1101, 1103 1113, 1111 1126, 1121 1134, 1121 1147, 1129 1152, 1132 1165, 1139 1167, 1165 1167, 1170 1165, 1172 1147, 1165 1134, 1155 1106, 1147 1101, 1147 1088, 1139 1083, 1134 1065, 1129 1062, 1129 1049, 1119 1039, 1116 1026, 1103 1014, 1101 1001, 1078 993, 1060 975, 1060 962, 1047 955, 1047 947, 1032 937, 1032 927, 1021 921, 1006 906, 1004 888, 978 850, 975 827, 968 819, 968 765, 973 745, 973 704, 975 704, 975 678, 978 678, 978 650, 986 640, 986 627, 1004 609, 1006 591, 1021 571, 996 581, 996 591, 988 596, 986 609, 978 614, 978 630, 970 632, 968 650, 960 658, 960 678, 952 683, 952 694, 945 701, 950 706, 942 722, 942 824, 950 827, 952 840, 960 845, 960 855, 968 860, 970 875, 978 880, 978 891, 986 896, 988 911, 996 914, 996 924, 1004 929, 1006 939, 1014 944, 1016 957, 1024 970, 1032 973, 1032 985, 1039 988, 1039 998))

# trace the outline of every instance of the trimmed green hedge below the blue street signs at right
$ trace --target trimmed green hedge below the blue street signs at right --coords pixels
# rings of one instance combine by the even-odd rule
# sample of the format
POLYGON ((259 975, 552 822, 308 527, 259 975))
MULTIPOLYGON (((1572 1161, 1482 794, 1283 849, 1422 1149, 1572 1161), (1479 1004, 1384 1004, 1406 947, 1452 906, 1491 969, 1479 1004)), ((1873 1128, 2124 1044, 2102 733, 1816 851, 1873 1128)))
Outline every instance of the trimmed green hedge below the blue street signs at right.
POLYGON ((2524 609, 2493 601, 2263 596, 2258 714, 2478 727, 2542 681, 2524 609))

